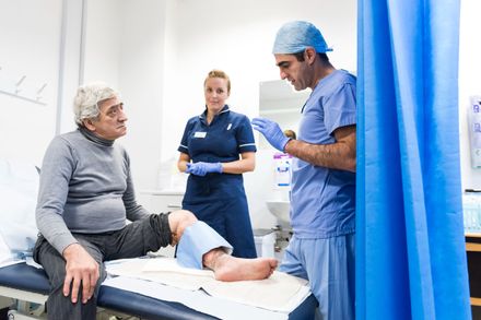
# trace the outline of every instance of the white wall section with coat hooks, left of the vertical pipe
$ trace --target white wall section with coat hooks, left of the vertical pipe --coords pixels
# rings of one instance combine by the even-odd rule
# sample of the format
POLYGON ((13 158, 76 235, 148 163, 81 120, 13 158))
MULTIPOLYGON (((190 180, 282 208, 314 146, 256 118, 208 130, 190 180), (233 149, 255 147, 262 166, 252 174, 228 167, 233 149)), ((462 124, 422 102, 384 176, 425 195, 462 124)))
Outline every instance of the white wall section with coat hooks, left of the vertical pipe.
POLYGON ((40 165, 54 138, 61 4, 61 0, 0 1, 0 157, 40 165), (23 76, 17 96, 5 94, 15 93, 23 76), (36 104, 44 84, 39 102, 45 105, 36 104))

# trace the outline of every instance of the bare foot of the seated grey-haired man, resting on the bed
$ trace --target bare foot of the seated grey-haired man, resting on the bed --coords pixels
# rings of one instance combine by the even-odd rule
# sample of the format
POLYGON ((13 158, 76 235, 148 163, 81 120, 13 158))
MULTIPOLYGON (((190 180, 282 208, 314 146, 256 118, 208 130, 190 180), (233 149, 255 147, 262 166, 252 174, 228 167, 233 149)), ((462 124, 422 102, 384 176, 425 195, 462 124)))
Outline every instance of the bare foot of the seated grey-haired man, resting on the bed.
POLYGON ((215 280, 245 281, 269 277, 278 266, 273 258, 243 259, 232 257, 223 251, 208 252, 204 256, 204 265, 212 269, 215 280), (213 253, 211 257, 206 257, 213 253))

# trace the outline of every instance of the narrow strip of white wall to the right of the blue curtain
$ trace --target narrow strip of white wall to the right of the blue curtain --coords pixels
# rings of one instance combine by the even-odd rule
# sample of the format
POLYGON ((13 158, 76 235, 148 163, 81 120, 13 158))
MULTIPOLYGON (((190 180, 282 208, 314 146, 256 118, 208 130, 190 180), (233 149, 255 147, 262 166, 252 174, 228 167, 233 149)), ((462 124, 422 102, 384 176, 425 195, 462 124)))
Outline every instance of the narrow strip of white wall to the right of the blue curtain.
POLYGON ((462 189, 481 189, 481 168, 471 167, 467 109, 469 97, 481 95, 481 43, 479 40, 479 0, 461 1, 459 44, 459 141, 462 189))

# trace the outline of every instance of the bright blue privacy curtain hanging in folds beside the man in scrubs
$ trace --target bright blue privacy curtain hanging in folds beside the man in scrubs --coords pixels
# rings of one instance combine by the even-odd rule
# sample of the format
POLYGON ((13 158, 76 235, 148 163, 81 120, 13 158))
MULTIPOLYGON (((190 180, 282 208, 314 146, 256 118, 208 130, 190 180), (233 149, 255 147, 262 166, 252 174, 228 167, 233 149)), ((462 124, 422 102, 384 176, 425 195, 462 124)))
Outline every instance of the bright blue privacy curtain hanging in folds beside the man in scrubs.
POLYGON ((356 319, 470 319, 459 0, 359 0, 356 319))

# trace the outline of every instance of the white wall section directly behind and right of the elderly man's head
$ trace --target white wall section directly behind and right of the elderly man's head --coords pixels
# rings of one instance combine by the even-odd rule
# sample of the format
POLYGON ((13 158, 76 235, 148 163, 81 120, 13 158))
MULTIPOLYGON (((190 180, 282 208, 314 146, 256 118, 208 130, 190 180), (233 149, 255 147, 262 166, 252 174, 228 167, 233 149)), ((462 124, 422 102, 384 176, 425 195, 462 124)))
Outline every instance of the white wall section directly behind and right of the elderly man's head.
POLYGON ((126 103, 137 190, 156 186, 161 159, 166 1, 91 0, 86 10, 84 82, 115 86, 126 103))

